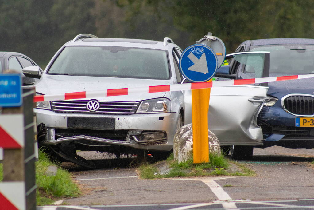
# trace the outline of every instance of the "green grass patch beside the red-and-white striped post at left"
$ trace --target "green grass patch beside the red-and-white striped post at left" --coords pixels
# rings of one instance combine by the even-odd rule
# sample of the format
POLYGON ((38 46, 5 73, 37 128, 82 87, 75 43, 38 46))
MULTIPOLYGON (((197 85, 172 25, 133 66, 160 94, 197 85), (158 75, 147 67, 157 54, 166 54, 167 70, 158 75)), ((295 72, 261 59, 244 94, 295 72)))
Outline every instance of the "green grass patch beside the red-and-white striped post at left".
MULTIPOLYGON (((57 166, 56 175, 46 176, 46 169, 52 165, 57 166, 49 160, 45 152, 39 150, 38 161, 35 163, 37 206, 51 205, 56 200, 80 195, 77 185, 73 183, 70 173, 67 170, 57 166)), ((0 181, 3 179, 2 169, 2 164, 0 164, 0 181)))

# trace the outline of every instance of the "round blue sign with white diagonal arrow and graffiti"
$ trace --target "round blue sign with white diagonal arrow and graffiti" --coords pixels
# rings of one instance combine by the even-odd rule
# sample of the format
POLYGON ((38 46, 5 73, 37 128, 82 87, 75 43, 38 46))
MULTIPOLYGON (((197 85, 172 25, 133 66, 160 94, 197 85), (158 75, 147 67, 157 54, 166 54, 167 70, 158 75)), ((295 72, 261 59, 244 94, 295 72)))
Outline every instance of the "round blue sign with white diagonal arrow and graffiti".
POLYGON ((213 78, 218 61, 214 51, 202 44, 187 47, 180 57, 180 69, 191 82, 205 82, 213 78))

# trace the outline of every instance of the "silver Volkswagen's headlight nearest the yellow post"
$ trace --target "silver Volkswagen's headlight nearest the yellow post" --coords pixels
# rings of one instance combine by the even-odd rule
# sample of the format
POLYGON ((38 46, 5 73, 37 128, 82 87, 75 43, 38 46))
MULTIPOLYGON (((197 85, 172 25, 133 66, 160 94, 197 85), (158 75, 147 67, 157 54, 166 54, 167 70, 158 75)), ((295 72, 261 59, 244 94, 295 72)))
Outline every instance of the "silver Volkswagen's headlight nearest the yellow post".
POLYGON ((167 98, 155 98, 142 101, 136 113, 165 113, 171 111, 171 103, 167 98))

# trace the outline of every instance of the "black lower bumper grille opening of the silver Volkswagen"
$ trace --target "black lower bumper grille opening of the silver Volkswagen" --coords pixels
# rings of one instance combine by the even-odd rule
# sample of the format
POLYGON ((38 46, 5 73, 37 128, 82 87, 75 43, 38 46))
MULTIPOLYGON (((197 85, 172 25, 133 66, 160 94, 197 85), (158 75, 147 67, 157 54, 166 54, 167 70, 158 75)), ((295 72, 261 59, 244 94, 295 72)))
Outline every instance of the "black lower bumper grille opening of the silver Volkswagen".
POLYGON ((55 128, 55 138, 63 138, 77 135, 88 135, 103 139, 126 141, 128 130, 92 130, 92 129, 66 129, 55 128))

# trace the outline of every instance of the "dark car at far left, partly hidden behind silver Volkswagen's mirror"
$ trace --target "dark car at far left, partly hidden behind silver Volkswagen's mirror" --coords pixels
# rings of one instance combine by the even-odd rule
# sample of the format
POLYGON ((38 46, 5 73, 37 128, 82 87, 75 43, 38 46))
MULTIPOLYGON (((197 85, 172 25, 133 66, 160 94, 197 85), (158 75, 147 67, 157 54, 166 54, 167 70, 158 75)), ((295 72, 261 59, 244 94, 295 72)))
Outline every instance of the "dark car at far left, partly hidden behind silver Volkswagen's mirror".
POLYGON ((21 73, 23 85, 34 84, 35 81, 37 81, 38 78, 40 78, 40 75, 43 72, 41 68, 32 59, 30 59, 29 57, 22 53, 0 52, 0 74, 5 73, 5 71, 8 69, 15 70, 21 73), (30 66, 38 67, 38 75, 33 75, 32 72, 27 71, 27 67, 30 66), (22 69, 24 69, 23 72, 22 69), (25 75, 27 75, 27 77, 25 75))

